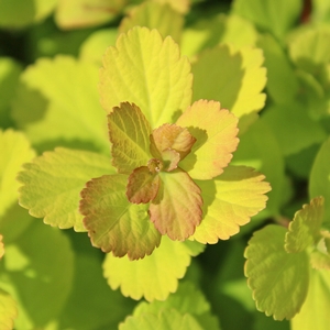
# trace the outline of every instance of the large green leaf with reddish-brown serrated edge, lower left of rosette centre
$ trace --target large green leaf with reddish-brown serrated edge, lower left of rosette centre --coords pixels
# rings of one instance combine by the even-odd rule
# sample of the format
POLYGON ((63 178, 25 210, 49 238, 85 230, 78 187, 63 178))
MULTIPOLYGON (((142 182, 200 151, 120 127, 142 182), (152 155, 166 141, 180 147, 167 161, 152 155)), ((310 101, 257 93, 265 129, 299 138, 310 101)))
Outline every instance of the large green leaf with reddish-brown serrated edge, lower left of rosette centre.
POLYGON ((160 245, 161 234, 148 219, 147 205, 128 200, 127 184, 123 174, 91 179, 81 191, 80 212, 94 246, 138 260, 160 245))

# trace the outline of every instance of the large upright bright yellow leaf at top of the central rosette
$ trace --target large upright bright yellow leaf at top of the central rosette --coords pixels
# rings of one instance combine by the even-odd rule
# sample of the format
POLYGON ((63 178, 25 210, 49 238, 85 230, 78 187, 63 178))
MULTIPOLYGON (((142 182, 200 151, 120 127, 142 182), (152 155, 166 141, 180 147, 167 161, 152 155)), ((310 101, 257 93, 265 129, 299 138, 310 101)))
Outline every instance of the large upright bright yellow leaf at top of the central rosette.
POLYGON ((154 129, 190 105, 191 84, 190 64, 170 37, 134 28, 107 50, 99 90, 108 112, 122 101, 134 102, 154 129))

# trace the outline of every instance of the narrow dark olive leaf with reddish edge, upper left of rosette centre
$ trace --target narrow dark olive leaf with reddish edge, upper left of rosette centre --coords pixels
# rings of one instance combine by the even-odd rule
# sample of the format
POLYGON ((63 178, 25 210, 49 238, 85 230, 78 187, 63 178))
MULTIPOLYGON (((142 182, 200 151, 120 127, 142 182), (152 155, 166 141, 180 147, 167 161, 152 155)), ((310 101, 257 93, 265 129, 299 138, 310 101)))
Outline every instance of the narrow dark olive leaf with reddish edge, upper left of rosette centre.
POLYGON ((151 158, 151 127, 134 103, 123 102, 108 116, 109 135, 112 143, 112 163, 119 173, 130 174, 146 165, 151 158))

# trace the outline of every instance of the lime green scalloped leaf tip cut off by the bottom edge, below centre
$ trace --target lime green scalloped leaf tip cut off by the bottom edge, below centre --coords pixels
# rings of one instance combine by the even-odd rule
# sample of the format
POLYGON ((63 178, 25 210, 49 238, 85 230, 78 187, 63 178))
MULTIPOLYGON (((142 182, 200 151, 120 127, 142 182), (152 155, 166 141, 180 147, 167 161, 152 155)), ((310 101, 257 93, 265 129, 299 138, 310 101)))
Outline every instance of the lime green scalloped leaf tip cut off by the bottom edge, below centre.
POLYGON ((202 330, 198 321, 190 315, 180 315, 175 309, 161 310, 158 315, 143 314, 138 317, 128 317, 119 330, 202 330))

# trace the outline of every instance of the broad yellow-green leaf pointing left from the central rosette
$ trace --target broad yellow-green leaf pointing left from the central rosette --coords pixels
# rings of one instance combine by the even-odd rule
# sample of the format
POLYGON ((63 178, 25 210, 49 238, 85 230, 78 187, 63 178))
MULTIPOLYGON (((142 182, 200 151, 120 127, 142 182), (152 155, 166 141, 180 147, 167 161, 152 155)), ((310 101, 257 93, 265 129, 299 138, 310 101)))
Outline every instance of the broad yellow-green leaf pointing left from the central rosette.
POLYGON ((63 147, 44 153, 23 168, 18 176, 23 185, 19 190, 20 205, 31 216, 44 218, 46 224, 74 227, 76 231, 85 231, 78 207, 86 182, 114 173, 106 156, 63 147))

